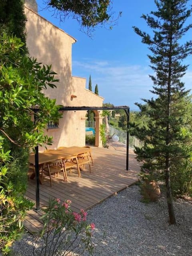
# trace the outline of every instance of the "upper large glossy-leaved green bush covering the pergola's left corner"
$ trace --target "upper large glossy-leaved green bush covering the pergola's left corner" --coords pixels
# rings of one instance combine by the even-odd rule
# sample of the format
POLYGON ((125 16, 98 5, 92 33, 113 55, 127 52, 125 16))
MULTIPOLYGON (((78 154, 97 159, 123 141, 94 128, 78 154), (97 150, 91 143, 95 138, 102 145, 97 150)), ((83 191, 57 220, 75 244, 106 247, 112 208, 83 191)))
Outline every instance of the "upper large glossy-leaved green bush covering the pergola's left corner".
POLYGON ((6 34, 0 38, 0 132, 20 146, 49 144, 52 138, 44 136, 44 128, 61 115, 56 100, 46 97, 42 90, 56 87, 58 80, 51 66, 22 56, 22 46, 19 38, 6 34), (34 113, 34 107, 39 111, 34 113))

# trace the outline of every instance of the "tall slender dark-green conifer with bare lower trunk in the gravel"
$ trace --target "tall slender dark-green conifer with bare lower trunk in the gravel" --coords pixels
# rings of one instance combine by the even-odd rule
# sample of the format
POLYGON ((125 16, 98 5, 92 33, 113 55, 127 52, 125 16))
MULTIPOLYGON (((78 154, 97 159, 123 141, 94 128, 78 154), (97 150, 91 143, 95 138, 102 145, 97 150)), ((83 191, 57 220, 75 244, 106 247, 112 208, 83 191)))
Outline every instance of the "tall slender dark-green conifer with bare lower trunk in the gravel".
POLYGON ((187 69, 181 61, 192 53, 192 41, 180 45, 180 38, 192 28, 191 24, 184 27, 191 14, 191 9, 186 8, 187 2, 155 0, 157 11, 142 15, 152 28, 153 36, 134 27, 153 54, 148 56, 155 72, 154 76, 150 76, 154 83, 151 92, 158 97, 144 100, 144 105, 137 104, 148 119, 148 127, 136 130, 138 138, 144 141, 144 146, 137 148, 136 153, 138 160, 144 161, 142 168, 164 177, 170 224, 176 224, 170 174, 176 162, 188 157, 182 145, 190 138, 183 132, 186 128, 185 99, 188 91, 180 81, 187 69))

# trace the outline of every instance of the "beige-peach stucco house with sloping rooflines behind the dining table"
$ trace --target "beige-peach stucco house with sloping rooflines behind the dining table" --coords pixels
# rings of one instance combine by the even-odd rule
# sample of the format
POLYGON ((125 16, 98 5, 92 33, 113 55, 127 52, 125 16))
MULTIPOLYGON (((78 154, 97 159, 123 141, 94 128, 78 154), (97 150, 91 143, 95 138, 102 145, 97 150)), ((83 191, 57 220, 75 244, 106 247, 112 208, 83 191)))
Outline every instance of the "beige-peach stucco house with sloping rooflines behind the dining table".
MULTIPOLYGON (((26 4, 27 5, 27 4, 26 4)), ((56 99, 62 106, 102 106, 104 98, 86 89, 86 79, 72 76, 72 44, 76 42, 72 36, 54 26, 37 12, 25 7, 27 16, 27 46, 31 57, 43 64, 52 64, 52 70, 60 80, 57 88, 48 88, 46 96, 56 99)), ((95 111, 96 146, 102 146, 99 126, 102 123, 101 112, 95 111)), ((85 145, 86 111, 64 111, 58 128, 48 128, 45 133, 53 136, 54 145, 85 145)), ((44 148, 40 148, 40 151, 44 148)))

